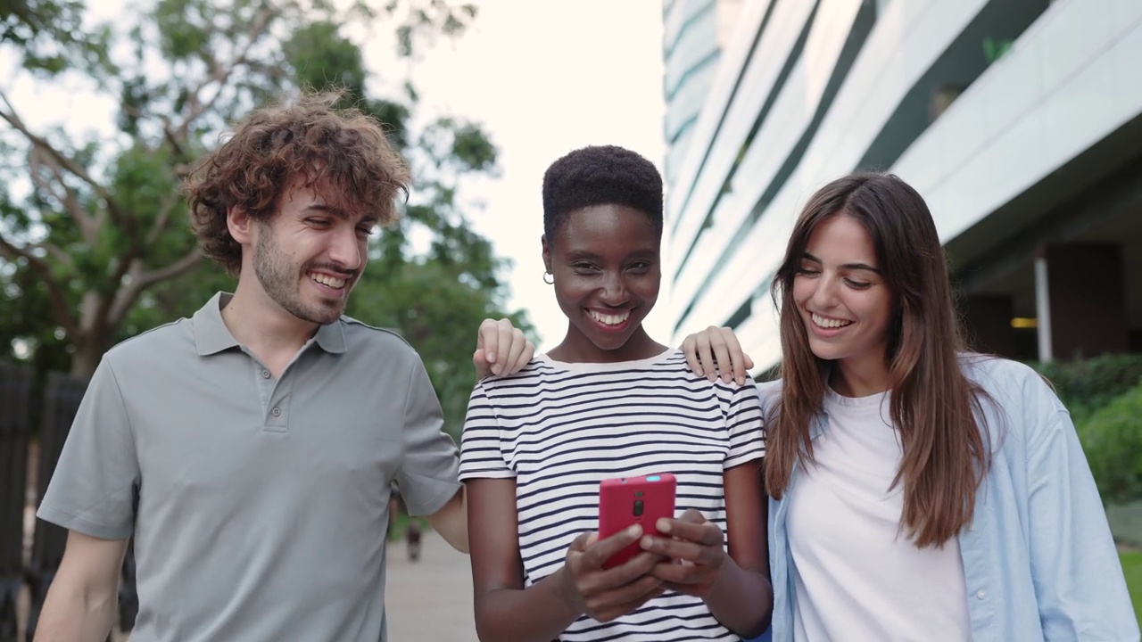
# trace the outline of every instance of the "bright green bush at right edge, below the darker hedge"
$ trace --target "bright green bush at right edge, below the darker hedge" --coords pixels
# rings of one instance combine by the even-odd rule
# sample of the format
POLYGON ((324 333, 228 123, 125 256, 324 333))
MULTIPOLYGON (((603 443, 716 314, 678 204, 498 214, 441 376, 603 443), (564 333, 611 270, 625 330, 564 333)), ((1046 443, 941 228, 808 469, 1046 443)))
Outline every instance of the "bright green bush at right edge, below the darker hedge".
POLYGON ((1142 499, 1142 385, 1077 423, 1104 503, 1142 499))

